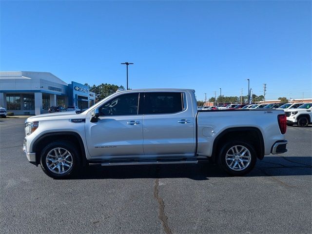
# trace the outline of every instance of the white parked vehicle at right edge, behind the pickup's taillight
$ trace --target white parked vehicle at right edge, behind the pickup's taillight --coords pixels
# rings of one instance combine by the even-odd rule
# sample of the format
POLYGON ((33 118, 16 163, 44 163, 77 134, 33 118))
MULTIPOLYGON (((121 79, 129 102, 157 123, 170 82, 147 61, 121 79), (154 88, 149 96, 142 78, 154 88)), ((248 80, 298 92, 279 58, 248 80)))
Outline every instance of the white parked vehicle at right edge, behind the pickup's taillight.
POLYGON ((312 103, 305 103, 296 109, 285 110, 285 115, 288 125, 297 124, 298 127, 307 127, 311 124, 312 103))

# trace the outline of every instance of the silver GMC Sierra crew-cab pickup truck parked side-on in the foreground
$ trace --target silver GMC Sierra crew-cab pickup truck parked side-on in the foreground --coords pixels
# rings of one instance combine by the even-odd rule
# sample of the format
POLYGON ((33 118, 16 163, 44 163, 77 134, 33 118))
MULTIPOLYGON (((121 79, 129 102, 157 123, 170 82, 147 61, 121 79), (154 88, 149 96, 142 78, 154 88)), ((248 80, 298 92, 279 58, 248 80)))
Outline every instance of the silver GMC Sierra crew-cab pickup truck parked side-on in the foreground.
POLYGON ((208 159, 242 176, 264 155, 287 151, 283 110, 197 111, 195 91, 119 91, 82 113, 25 121, 24 152, 48 176, 83 165, 198 163, 208 159))

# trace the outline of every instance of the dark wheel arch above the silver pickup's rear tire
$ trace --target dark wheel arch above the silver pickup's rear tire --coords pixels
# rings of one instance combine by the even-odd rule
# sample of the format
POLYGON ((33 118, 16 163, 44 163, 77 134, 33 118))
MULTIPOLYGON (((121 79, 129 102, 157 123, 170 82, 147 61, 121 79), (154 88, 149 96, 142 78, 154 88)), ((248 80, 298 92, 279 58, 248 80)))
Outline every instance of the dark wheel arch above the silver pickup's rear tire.
POLYGON ((234 127, 225 129, 220 133, 214 141, 212 160, 216 162, 218 153, 220 152, 223 142, 228 140, 246 140, 254 146, 257 158, 260 160, 264 157, 264 140, 261 131, 256 127, 234 127))

